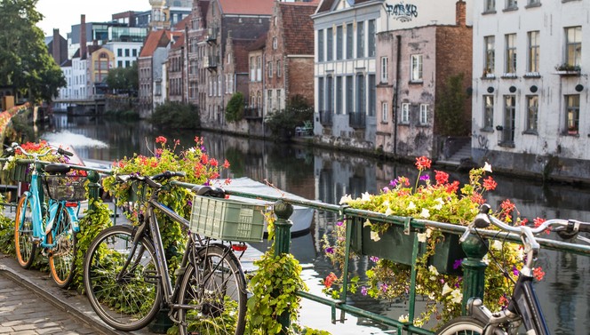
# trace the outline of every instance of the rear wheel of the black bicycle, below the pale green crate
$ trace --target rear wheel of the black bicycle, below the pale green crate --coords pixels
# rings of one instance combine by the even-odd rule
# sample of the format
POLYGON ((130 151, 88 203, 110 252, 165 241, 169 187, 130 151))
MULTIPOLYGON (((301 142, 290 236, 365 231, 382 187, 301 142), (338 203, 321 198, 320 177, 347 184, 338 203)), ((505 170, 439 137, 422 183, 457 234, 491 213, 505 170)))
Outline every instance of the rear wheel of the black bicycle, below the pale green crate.
POLYGON ((246 280, 240 261, 228 248, 212 244, 198 251, 196 271, 188 266, 179 291, 179 331, 187 334, 242 335, 246 280))

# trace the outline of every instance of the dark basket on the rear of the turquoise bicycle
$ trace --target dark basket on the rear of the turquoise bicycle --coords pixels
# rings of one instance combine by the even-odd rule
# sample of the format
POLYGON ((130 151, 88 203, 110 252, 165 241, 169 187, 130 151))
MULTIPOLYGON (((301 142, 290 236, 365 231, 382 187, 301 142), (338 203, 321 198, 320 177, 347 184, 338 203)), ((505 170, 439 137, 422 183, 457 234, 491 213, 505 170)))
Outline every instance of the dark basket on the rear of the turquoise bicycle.
POLYGON ((86 196, 84 188, 85 177, 82 176, 63 176, 47 175, 45 179, 45 195, 53 200, 58 201, 83 201, 86 196))

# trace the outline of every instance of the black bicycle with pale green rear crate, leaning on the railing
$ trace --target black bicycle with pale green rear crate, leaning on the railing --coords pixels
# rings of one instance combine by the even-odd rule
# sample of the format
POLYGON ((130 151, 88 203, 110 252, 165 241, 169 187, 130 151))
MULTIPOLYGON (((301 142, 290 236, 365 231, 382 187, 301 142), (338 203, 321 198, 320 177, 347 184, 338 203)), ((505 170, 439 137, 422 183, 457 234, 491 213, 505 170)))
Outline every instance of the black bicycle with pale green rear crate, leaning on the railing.
MULTIPOLYGON (((173 171, 152 177, 117 176, 119 182, 148 186, 151 194, 147 201, 140 199, 143 206, 138 226, 108 227, 92 241, 84 259, 86 295, 100 318, 120 331, 145 327, 163 306, 170 309, 168 315, 178 323, 180 334, 243 334, 246 281, 235 251, 244 251, 245 244, 202 237, 191 231, 194 218, 184 219, 158 202, 163 190, 160 182, 183 176, 184 172, 173 171), (155 210, 189 231, 173 287, 155 210)), ((192 190, 195 198, 212 196, 216 201, 227 201, 221 188, 192 190)))

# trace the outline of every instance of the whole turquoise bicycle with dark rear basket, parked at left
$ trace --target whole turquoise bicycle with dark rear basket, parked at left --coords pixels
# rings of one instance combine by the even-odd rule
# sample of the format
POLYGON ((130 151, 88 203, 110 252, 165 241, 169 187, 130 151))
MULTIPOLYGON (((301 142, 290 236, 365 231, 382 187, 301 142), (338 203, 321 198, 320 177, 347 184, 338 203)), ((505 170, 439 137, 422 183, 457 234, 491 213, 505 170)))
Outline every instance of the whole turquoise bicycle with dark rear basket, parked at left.
POLYGON ((30 189, 21 195, 14 220, 17 260, 20 267, 28 269, 37 248, 43 248, 53 280, 60 288, 67 288, 76 268, 78 212, 80 202, 86 199, 85 178, 68 175, 76 170, 72 165, 47 164, 42 168, 39 164, 50 153, 72 156, 67 150, 48 148, 42 153, 28 153, 17 143, 7 149, 9 154, 16 150, 33 159, 30 189))

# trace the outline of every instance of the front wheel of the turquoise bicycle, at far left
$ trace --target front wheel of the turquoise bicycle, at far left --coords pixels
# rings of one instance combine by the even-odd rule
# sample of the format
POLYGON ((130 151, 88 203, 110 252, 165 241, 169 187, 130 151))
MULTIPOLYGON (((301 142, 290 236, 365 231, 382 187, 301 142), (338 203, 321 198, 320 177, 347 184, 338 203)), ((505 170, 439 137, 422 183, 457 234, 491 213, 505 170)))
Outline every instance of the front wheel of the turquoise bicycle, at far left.
POLYGON ((27 196, 20 197, 16 207, 14 247, 20 267, 31 267, 35 260, 37 245, 33 243, 33 208, 27 196))

